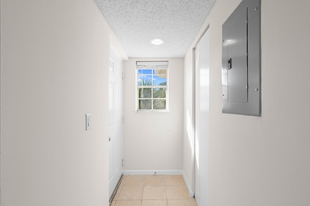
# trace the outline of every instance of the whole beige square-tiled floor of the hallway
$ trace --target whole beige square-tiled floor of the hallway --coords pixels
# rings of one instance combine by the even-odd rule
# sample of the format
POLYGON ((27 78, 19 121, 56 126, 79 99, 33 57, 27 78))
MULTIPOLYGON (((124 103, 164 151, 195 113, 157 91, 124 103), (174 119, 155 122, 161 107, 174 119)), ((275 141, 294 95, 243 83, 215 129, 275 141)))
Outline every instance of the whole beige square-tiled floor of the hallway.
POLYGON ((197 206, 182 175, 125 175, 111 206, 197 206))

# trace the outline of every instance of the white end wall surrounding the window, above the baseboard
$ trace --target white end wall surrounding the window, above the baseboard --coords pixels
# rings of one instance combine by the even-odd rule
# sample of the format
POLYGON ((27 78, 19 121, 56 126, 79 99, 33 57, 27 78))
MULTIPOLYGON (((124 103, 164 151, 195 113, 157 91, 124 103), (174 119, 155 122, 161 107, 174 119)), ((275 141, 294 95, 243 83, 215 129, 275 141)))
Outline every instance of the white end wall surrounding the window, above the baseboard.
POLYGON ((183 59, 124 61, 124 170, 182 170, 183 59), (169 61, 169 112, 136 112, 136 61, 169 61))

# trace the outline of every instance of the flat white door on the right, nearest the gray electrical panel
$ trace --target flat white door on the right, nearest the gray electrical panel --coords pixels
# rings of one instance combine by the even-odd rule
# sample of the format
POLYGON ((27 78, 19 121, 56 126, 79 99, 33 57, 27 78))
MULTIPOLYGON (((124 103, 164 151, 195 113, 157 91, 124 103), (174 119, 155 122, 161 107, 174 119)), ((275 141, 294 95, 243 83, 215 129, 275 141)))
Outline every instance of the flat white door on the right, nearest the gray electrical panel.
POLYGON ((208 205, 209 30, 195 50, 195 199, 208 205))

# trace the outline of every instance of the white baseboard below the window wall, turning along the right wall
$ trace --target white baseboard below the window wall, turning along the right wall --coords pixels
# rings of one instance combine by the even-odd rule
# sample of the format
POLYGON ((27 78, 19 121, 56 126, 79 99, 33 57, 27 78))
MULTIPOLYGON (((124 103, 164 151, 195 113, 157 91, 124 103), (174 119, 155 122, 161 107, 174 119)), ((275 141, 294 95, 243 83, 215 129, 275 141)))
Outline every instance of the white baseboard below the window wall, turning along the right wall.
POLYGON ((189 187, 183 170, 123 170, 123 175, 182 175, 190 197, 194 197, 194 192, 189 187), (156 173, 155 173, 156 172, 156 173))

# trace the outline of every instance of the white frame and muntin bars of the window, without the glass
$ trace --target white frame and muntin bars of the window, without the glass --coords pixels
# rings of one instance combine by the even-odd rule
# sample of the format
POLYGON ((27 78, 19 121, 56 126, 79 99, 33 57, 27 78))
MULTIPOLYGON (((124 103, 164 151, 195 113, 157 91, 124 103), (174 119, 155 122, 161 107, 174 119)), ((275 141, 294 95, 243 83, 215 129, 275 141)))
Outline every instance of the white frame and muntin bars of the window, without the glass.
MULTIPOLYGON (((136 62, 136 112, 168 112, 169 111, 169 101, 168 101, 168 83, 169 83, 169 62, 168 61, 137 61, 136 62), (138 71, 141 69, 165 69, 167 70, 167 83, 166 86, 139 86, 139 73, 138 71), (144 98, 139 98, 139 88, 166 88, 166 98, 154 98, 153 97, 153 92, 151 92, 152 97, 151 98, 145 98, 145 99, 151 99, 152 102, 152 108, 151 109, 139 109, 139 100, 144 99, 144 98), (166 109, 154 109, 153 108, 153 100, 156 99, 165 99, 166 100, 166 109)), ((152 82, 154 78, 154 74, 151 74, 152 76, 152 82)))

